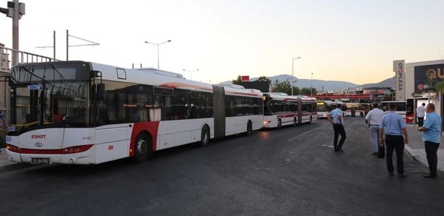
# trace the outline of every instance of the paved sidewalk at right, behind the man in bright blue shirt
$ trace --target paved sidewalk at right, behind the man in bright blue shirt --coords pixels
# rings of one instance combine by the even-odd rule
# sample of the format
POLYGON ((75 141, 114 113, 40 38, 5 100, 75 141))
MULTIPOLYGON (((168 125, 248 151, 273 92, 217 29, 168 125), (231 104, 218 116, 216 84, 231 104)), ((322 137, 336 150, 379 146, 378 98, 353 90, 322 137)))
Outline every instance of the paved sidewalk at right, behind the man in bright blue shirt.
MULTIPOLYGON (((418 131, 418 126, 411 124, 407 125, 409 143, 405 146, 407 154, 414 160, 421 164, 428 166, 427 155, 424 149, 424 142, 422 141, 421 132, 418 131)), ((441 137, 440 148, 438 149, 438 170, 444 172, 444 136, 441 137)))

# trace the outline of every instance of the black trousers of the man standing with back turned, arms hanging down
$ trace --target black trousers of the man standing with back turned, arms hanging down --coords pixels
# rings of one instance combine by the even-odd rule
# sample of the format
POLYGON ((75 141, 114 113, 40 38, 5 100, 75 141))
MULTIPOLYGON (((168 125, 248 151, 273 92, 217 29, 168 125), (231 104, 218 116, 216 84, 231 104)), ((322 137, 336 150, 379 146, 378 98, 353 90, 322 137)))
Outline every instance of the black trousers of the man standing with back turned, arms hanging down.
POLYGON ((404 137, 402 135, 385 135, 387 148, 387 169, 393 173, 393 151, 396 151, 398 174, 404 174, 404 137))

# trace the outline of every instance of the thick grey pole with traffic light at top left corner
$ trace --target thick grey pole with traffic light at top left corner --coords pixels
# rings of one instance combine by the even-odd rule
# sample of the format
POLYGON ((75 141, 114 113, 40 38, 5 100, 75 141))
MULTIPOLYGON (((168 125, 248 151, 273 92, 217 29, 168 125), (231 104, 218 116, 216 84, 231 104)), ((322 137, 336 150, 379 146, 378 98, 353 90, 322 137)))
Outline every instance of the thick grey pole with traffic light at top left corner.
MULTIPOLYGON (((25 3, 19 3, 18 0, 8 1, 7 8, 0 7, 0 13, 6 14, 12 18, 12 49, 19 50, 19 20, 25 15, 25 3)), ((12 66, 18 61, 18 52, 12 52, 12 66)))

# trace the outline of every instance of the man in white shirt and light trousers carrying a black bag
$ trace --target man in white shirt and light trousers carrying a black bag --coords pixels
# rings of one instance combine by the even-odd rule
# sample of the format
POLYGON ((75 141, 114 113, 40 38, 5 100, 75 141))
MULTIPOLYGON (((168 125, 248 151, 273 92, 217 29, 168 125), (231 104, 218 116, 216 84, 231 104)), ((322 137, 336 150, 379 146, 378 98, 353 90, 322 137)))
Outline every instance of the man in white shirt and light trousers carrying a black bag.
POLYGON ((373 144, 373 152, 371 154, 378 155, 379 146, 379 124, 381 124, 384 111, 379 109, 379 104, 374 103, 373 109, 366 116, 366 124, 370 124, 371 143, 373 144))

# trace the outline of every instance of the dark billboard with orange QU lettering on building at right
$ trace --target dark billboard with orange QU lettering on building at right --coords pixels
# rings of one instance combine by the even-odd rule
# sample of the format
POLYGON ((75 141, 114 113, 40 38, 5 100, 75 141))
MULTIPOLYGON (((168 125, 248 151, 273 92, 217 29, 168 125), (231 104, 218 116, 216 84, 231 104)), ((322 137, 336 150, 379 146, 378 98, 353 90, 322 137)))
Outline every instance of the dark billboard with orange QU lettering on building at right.
POLYGON ((429 84, 444 80, 444 64, 415 66, 415 92, 429 88, 429 84))

